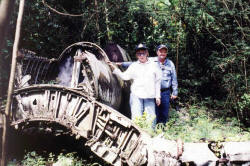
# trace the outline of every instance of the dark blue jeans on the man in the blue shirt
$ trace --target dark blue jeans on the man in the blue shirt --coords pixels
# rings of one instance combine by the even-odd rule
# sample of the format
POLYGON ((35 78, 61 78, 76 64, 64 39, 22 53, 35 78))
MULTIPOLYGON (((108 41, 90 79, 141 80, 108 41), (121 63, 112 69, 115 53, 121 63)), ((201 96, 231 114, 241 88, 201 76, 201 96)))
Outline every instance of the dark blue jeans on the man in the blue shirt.
POLYGON ((165 124, 168 121, 170 90, 161 92, 161 104, 156 106, 156 121, 157 123, 165 124))

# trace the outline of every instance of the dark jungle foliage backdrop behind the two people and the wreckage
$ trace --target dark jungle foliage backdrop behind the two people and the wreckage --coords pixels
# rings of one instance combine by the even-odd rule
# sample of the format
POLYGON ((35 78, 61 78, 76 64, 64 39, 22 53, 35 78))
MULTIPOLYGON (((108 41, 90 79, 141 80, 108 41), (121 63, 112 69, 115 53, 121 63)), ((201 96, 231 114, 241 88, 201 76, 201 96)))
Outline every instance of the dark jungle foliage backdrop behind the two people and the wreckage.
MULTIPOLYGON (((20 48, 57 57, 68 45, 114 42, 132 57, 144 42, 152 56, 160 43, 178 71, 179 100, 203 101, 250 125, 250 8, 245 0, 26 1, 20 48), (68 14, 58 14, 48 7, 68 14)), ((1 96, 6 94, 18 2, 1 50, 1 96), (5 62, 8 63, 5 63, 5 62)))

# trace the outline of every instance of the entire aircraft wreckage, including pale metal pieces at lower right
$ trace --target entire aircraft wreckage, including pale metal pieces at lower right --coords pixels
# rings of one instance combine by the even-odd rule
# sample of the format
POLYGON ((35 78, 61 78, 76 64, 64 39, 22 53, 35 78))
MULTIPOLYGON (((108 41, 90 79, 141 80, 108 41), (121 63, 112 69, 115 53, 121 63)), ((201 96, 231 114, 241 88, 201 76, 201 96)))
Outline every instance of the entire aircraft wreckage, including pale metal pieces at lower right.
POLYGON ((105 51, 90 42, 67 47, 58 59, 19 51, 11 126, 18 130, 64 126, 115 166, 249 164, 250 142, 222 143, 219 158, 209 143, 151 138, 120 113, 128 104, 122 102, 128 101, 123 97, 129 84, 112 74, 107 61, 105 51))

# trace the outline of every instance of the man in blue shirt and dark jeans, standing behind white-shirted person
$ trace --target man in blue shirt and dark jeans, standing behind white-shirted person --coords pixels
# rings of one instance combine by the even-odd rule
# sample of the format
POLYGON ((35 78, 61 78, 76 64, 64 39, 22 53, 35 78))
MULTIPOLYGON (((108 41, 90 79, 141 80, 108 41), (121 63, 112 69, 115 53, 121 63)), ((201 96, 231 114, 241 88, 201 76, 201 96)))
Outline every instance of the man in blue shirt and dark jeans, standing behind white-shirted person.
MULTIPOLYGON (((157 57, 149 60, 158 63, 162 70, 161 81, 161 104, 156 106, 157 123, 166 123, 168 121, 170 99, 174 100, 178 95, 178 82, 174 63, 167 58, 168 48, 161 44, 156 48, 157 57), (172 90, 172 92, 171 92, 172 90)), ((132 62, 116 63, 122 67, 128 67, 132 62)))

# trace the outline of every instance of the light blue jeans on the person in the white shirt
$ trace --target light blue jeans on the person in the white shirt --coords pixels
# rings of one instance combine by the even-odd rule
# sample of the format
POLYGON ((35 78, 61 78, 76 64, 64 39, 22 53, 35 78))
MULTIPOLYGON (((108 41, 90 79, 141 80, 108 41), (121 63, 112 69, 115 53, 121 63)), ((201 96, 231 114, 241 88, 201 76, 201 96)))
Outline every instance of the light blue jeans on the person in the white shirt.
POLYGON ((155 127, 155 98, 142 99, 130 93, 130 109, 132 120, 135 120, 136 117, 141 117, 145 111, 147 113, 147 119, 153 119, 152 127, 155 127))

